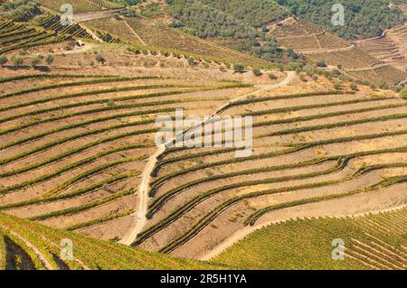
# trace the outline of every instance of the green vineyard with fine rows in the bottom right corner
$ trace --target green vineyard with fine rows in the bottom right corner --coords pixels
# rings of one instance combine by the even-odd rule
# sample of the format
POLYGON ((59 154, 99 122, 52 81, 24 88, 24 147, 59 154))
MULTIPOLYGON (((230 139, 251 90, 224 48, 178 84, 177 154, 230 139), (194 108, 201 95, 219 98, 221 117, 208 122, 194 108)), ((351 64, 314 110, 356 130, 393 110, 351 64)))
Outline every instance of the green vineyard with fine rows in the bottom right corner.
POLYGON ((288 220, 254 232, 213 262, 246 269, 405 270, 406 218, 407 208, 356 218, 288 220), (334 239, 344 241, 344 261, 332 259, 334 239))

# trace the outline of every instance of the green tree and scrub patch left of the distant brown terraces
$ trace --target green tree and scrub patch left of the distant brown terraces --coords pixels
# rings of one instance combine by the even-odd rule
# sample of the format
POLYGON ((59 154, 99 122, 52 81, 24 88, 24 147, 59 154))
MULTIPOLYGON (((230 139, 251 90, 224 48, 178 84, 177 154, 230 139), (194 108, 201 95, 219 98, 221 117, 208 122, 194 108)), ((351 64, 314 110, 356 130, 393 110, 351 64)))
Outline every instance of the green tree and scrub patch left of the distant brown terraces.
POLYGON ((168 13, 176 19, 171 26, 185 33, 221 40, 225 46, 262 60, 281 62, 287 56, 292 61, 303 61, 294 51, 279 49, 268 34, 266 24, 289 15, 288 9, 274 0, 166 0, 166 3, 168 13))

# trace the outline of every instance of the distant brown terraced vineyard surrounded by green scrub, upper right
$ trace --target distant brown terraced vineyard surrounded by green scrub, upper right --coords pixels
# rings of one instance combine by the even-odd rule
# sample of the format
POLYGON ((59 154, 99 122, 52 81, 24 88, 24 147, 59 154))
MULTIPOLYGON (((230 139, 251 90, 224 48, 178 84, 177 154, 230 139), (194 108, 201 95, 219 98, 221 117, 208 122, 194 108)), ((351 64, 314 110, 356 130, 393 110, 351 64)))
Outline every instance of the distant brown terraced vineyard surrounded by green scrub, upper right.
MULTIPOLYGON (((311 64, 325 62, 339 66, 358 79, 379 84, 385 81, 395 86, 406 79, 407 74, 390 64, 403 65, 403 56, 395 44, 387 38, 357 42, 357 47, 334 34, 318 29, 312 23, 288 18, 270 27, 279 45, 305 54, 311 64)), ((402 66, 397 66, 402 68, 402 66)))

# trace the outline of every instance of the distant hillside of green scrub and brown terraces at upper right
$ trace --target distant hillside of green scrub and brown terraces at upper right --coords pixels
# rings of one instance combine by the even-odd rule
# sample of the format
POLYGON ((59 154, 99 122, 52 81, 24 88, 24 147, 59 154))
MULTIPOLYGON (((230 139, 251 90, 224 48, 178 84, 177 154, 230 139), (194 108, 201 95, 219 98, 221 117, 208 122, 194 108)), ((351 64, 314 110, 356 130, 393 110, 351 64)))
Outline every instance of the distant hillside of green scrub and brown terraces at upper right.
POLYGON ((318 5, 272 0, 227 3, 174 0, 160 3, 161 6, 157 6, 160 7, 159 16, 151 16, 156 22, 170 23, 180 31, 262 60, 301 64, 305 62, 301 56, 304 55, 308 64, 324 61, 330 69, 342 67, 347 75, 374 85, 383 86, 385 83, 393 87, 406 79, 402 66, 404 52, 395 54, 394 49, 390 51, 393 46, 389 48, 386 42, 379 44, 377 49, 371 42, 366 43, 368 48, 362 43, 356 48, 355 43, 338 37, 349 40, 374 37, 403 23, 401 11, 389 8, 383 1, 367 0, 364 5, 347 1, 344 5, 351 7, 347 10, 347 21, 352 25, 345 27, 330 23, 330 2, 318 5), (320 17, 321 11, 326 17, 320 17))

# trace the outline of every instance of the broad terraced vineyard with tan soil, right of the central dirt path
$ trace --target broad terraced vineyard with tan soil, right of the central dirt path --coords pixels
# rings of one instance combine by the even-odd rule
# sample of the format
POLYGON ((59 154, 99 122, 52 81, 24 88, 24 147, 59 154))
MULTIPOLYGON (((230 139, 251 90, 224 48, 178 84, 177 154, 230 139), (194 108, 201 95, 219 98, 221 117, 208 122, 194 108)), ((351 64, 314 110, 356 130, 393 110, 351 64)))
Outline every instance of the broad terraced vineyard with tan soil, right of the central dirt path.
POLYGON ((247 225, 405 203, 406 107, 336 90, 233 102, 222 115, 254 116, 253 154, 167 148, 135 245, 199 258, 247 225))

